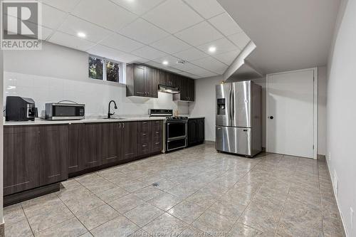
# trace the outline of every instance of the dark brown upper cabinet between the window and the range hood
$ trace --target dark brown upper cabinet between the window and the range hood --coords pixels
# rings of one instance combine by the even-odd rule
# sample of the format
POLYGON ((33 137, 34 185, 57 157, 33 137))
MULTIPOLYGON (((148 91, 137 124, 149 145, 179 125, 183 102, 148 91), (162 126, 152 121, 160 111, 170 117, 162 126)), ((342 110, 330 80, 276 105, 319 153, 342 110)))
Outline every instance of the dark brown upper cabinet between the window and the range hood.
POLYGON ((159 74, 156 68, 130 64, 126 66, 126 96, 158 98, 159 74))

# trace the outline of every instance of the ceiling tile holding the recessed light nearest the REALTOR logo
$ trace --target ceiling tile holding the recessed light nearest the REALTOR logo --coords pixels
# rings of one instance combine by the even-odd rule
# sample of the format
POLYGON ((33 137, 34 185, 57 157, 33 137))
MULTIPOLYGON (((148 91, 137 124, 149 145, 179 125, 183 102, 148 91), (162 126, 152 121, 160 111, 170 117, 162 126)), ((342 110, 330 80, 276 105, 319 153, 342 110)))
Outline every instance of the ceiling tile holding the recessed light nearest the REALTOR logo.
POLYGON ((83 32, 86 35, 85 39, 93 42, 101 41, 103 38, 106 38, 111 34, 111 31, 96 26, 93 23, 89 23, 88 21, 79 19, 76 16, 68 16, 66 21, 64 21, 61 27, 58 28, 58 31, 68 33, 73 36, 77 36, 78 32, 83 32))

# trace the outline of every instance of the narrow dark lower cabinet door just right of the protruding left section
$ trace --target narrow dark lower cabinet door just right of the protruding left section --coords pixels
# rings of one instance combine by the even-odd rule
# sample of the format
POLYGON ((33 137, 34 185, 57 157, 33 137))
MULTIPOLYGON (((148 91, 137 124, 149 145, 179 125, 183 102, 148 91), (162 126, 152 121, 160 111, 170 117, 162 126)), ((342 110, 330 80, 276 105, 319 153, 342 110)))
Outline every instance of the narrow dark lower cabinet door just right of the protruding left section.
POLYGON ((68 173, 80 172, 85 162, 79 156, 79 134, 84 125, 68 125, 68 173))

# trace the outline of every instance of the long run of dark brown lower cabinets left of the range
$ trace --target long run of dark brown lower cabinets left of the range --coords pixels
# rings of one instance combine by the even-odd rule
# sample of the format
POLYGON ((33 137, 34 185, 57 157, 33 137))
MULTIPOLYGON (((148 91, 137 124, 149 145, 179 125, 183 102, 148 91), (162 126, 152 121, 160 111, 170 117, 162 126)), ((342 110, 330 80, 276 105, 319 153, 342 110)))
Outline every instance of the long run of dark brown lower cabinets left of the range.
POLYGON ((162 121, 5 126, 4 195, 160 152, 162 131, 162 121))

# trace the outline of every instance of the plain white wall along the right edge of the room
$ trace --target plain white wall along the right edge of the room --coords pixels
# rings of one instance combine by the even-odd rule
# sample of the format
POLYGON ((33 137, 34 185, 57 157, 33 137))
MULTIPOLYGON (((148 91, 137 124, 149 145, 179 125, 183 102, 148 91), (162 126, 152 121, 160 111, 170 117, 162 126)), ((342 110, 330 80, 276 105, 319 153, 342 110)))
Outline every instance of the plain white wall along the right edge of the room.
POLYGON ((337 203, 347 235, 356 236, 356 214, 353 229, 350 216, 350 207, 356 211, 355 0, 342 1, 338 19, 340 28, 335 31, 328 63, 327 161, 332 177, 337 175, 337 203))

